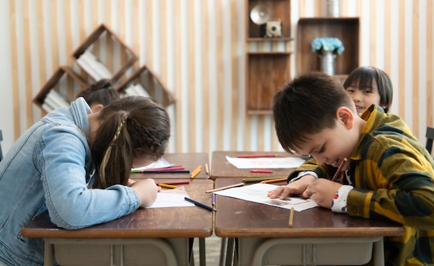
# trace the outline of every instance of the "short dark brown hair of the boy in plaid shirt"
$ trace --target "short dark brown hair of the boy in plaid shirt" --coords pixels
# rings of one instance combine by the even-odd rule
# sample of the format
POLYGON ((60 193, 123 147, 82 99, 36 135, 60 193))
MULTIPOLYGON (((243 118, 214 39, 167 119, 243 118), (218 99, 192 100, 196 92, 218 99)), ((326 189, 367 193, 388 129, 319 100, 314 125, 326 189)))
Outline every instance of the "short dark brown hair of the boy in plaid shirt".
POLYGON ((317 134, 336 125, 336 110, 348 107, 356 113, 345 89, 331 76, 309 72, 287 82, 274 97, 272 112, 277 139, 287 152, 293 152, 317 134))

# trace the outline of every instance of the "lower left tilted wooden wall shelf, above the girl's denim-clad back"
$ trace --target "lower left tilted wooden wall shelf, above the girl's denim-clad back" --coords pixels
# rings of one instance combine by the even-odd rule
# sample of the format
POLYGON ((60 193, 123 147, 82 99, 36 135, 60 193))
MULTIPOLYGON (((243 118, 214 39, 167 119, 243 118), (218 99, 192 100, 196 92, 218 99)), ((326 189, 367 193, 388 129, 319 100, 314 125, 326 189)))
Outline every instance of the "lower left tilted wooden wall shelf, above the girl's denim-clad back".
POLYGON ((71 67, 60 66, 37 96, 33 98, 33 103, 46 112, 50 112, 59 106, 69 105, 71 101, 75 100, 76 95, 88 86, 87 82, 78 76, 71 67), (56 98, 51 98, 51 96, 56 98), (57 98, 58 96, 60 98, 57 98), (52 103, 51 100, 55 100, 55 103, 52 103))

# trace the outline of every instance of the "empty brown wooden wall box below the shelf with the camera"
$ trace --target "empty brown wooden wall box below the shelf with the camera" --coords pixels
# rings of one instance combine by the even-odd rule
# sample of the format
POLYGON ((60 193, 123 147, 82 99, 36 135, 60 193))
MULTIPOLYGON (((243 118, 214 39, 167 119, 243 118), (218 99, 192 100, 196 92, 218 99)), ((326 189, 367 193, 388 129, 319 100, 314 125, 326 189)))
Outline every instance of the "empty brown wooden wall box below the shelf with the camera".
POLYGON ((290 52, 250 52, 246 56, 248 114, 272 114, 272 100, 290 80, 290 52))

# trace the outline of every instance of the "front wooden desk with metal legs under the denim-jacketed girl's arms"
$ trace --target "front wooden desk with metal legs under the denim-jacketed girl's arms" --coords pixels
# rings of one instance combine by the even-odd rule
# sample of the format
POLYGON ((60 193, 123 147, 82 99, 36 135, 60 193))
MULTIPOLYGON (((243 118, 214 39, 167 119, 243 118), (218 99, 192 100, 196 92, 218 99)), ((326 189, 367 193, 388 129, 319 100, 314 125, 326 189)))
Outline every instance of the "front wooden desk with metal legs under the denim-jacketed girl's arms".
MULTIPOLYGON (((189 197, 211 205, 211 180, 184 185, 189 197)), ((44 265, 189 265, 191 238, 200 238, 200 265, 205 265, 205 238, 213 232, 213 212, 198 206, 139 209, 112 222, 80 230, 60 229, 48 213, 21 231, 44 238, 44 265)))

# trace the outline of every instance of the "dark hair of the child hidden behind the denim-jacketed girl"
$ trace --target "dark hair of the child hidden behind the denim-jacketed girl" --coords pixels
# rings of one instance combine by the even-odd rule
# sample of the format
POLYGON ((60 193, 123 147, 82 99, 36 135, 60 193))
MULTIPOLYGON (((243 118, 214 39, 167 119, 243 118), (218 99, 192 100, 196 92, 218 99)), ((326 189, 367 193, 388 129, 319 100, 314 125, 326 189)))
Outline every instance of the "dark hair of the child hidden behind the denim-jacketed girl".
POLYGON ((112 82, 109 79, 98 80, 98 82, 77 94, 76 98, 78 97, 85 98, 89 106, 95 103, 107 106, 112 101, 121 98, 118 91, 112 88, 112 82))

